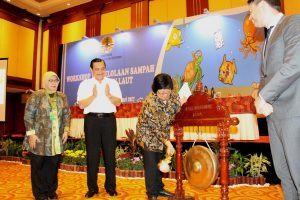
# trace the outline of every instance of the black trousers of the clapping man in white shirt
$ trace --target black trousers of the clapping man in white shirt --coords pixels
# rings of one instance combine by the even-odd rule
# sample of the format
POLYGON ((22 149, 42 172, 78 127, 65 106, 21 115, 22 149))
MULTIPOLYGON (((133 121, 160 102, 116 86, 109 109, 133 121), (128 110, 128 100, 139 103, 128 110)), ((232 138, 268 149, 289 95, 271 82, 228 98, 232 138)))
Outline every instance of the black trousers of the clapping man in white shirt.
POLYGON ((84 132, 87 151, 87 185, 89 191, 99 191, 98 167, 100 161, 100 148, 102 147, 105 165, 106 191, 116 189, 116 118, 97 117, 86 115, 84 118, 84 132))

